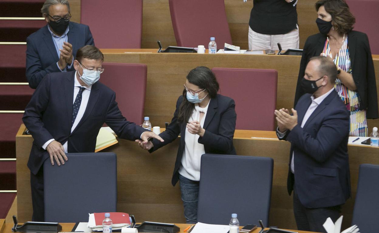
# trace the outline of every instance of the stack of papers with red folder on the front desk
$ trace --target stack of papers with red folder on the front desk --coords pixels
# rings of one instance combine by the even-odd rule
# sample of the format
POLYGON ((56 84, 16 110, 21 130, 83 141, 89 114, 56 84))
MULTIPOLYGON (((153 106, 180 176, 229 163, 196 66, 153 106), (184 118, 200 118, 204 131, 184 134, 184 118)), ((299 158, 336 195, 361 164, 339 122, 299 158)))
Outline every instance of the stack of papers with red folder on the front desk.
MULTIPOLYGON (((103 220, 105 213, 89 214, 87 227, 92 231, 103 231, 103 220)), ((129 214, 121 212, 111 212, 110 218, 112 219, 112 230, 119 230, 122 227, 130 226, 129 214)))

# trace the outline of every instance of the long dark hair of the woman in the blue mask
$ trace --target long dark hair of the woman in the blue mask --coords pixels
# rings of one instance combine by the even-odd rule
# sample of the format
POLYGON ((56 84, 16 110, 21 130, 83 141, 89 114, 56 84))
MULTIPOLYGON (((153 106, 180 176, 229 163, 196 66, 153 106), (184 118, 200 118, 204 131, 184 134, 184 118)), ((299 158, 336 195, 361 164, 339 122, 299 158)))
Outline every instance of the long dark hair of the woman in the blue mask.
MULTIPOLYGON (((207 89, 208 95, 211 98, 215 98, 217 96, 219 84, 216 80, 215 74, 213 74, 213 72, 208 67, 197 66, 193 70, 189 71, 187 80, 188 82, 199 86, 201 89, 207 89)), ((191 117, 194 107, 195 104, 187 100, 187 91, 184 88, 183 102, 179 107, 178 122, 188 122, 188 119, 191 117)))

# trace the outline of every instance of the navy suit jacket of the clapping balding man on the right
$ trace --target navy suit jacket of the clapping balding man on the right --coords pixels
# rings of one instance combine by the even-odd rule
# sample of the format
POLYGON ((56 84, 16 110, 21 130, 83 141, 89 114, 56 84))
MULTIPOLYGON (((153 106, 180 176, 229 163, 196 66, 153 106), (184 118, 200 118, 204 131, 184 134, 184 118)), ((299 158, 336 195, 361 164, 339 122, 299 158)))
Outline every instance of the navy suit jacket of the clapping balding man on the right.
POLYGON ((351 196, 348 156, 349 112, 332 91, 301 123, 311 104, 311 94, 297 103, 298 125, 283 139, 291 142, 290 161, 294 152, 294 174, 288 165, 288 194, 293 185, 301 203, 307 208, 344 204, 351 196))

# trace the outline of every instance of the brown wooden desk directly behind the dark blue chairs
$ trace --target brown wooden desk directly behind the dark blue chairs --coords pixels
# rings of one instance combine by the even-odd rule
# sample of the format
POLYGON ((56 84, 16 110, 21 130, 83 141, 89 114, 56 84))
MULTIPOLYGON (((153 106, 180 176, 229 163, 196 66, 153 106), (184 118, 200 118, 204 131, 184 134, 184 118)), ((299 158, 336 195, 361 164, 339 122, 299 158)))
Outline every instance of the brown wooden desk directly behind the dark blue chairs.
MULTIPOLYGON (((16 136, 17 218, 20 222, 30 221, 32 213, 30 171, 26 164, 33 138, 22 135, 24 130, 22 125, 16 136)), ((138 221, 184 223, 179 185, 171 185, 179 140, 152 154, 141 150, 135 142, 118 140, 118 144, 103 150, 117 154, 117 211, 133 213, 138 221)), ((290 143, 276 139, 273 131, 248 130, 236 130, 233 143, 239 155, 274 159, 269 222, 270 225, 295 229, 292 197, 287 193, 290 143), (256 138, 253 139, 252 136, 256 138)), ((379 164, 379 148, 349 145, 348 150, 352 198, 342 208, 345 228, 351 222, 359 165, 379 164)))

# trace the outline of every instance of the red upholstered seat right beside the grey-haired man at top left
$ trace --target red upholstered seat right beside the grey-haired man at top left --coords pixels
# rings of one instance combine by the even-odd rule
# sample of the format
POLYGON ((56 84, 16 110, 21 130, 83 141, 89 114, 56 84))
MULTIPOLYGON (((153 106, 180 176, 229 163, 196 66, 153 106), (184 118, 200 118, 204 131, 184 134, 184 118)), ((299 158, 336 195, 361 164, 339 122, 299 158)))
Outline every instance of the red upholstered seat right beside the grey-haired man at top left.
MULTIPOLYGON (((142 0, 81 0, 97 48, 141 48, 142 0)), ((157 12, 159 14, 159 12, 157 12)))

